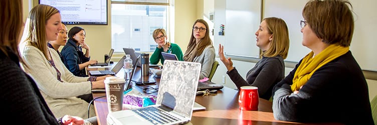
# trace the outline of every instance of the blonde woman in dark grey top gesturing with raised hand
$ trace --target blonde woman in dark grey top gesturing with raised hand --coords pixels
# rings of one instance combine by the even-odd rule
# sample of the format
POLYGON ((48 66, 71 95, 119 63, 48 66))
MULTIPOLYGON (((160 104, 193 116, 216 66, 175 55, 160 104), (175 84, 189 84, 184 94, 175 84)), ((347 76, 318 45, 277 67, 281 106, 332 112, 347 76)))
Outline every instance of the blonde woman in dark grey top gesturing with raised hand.
POLYGON ((227 74, 240 90, 241 86, 258 87, 258 95, 269 100, 274 85, 284 78, 284 60, 288 55, 288 27, 281 18, 268 17, 263 19, 255 32, 257 46, 262 49, 262 59, 246 74, 246 80, 233 67, 231 58, 225 58, 224 46, 219 45, 219 56, 227 67, 227 74))

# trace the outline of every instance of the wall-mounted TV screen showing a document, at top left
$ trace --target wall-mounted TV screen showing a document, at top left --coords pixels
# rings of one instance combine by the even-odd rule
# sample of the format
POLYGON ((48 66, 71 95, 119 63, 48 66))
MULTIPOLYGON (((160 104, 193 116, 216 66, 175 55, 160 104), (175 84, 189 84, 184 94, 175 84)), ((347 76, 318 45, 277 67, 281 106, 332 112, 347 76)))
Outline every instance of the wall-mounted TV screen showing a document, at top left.
POLYGON ((107 0, 39 0, 60 10, 62 21, 75 25, 107 25, 107 0))

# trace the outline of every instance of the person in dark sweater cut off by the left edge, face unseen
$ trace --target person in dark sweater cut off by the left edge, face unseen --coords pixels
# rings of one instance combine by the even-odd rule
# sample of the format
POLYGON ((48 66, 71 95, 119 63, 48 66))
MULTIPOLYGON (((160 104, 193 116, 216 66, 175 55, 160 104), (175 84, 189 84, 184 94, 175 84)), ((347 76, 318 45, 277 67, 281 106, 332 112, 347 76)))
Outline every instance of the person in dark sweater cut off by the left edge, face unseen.
POLYGON ((76 116, 56 119, 37 84, 21 69, 22 8, 22 0, 0 0, 0 29, 7 29, 0 30, 0 110, 5 114, 0 119, 12 124, 83 124, 76 116))

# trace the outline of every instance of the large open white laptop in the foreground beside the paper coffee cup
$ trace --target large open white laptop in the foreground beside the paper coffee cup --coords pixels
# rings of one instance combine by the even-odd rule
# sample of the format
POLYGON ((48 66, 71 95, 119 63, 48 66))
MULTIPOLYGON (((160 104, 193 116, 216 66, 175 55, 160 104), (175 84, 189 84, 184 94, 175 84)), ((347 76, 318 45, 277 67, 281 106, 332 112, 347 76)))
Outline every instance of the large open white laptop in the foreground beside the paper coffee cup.
POLYGON ((166 60, 163 65, 156 104, 109 112, 107 124, 183 124, 191 120, 202 64, 166 60))

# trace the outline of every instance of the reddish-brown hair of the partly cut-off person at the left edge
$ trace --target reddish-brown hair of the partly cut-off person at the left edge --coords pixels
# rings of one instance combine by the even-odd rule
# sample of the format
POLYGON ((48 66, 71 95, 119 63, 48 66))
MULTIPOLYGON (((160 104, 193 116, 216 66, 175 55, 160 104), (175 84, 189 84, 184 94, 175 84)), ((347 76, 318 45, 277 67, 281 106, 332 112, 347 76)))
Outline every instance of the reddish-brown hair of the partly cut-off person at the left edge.
POLYGON ((0 50, 9 56, 7 49, 12 49, 23 63, 18 49, 23 25, 22 0, 0 0, 0 8, 0 50))

